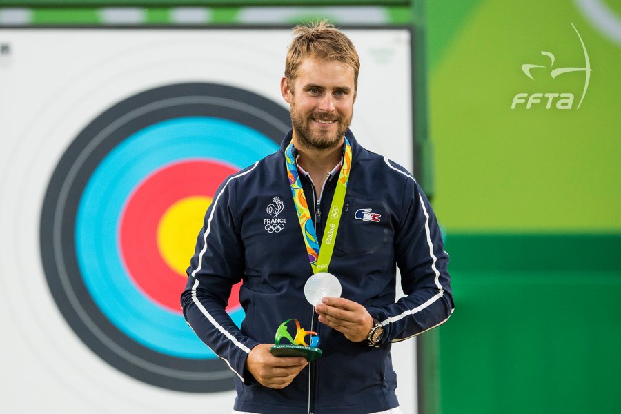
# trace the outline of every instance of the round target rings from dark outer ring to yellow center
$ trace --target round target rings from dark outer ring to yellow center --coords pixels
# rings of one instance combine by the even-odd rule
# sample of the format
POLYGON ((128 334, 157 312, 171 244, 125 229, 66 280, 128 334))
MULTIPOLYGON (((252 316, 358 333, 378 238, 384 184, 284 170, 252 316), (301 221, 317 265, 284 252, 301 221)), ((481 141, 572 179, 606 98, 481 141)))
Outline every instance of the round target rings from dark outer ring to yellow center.
MULTIPOLYGON (((253 92, 178 83, 124 99, 79 132, 46 190, 40 247, 52 296, 86 346, 161 388, 234 388, 179 295, 219 184, 289 129, 288 111, 253 92)), ((227 312, 239 325, 238 290, 227 312)))

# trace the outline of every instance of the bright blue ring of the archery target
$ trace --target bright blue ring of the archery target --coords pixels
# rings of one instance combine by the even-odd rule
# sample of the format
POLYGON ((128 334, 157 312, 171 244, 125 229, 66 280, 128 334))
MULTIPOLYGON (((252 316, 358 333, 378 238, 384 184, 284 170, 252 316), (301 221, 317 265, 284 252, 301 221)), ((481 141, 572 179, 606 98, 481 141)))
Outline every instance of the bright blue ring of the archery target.
MULTIPOLYGON (((186 117, 135 132, 101 161, 78 206, 75 244, 86 288, 117 328, 167 355, 216 357, 185 326, 180 313, 154 304, 129 277, 118 243, 121 212, 145 177, 163 166, 204 158, 224 161, 239 170, 277 148, 274 141, 248 126, 227 119, 186 117)), ((244 311, 238 308, 230 316, 240 326, 244 311)))

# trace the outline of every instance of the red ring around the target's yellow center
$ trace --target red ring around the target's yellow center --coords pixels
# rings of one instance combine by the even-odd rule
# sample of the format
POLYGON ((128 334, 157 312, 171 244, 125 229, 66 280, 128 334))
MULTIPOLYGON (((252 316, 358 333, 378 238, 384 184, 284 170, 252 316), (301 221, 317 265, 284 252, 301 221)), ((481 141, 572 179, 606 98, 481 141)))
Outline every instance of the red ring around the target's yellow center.
MULTIPOLYGON (((131 195, 121 215, 121 259, 137 288, 156 304, 180 313, 179 295, 187 280, 179 266, 173 268, 170 259, 166 260, 166 249, 175 240, 162 241, 161 234, 158 237, 163 219, 171 214, 184 215, 184 200, 192 197, 210 200, 219 184, 235 172, 237 168, 217 161, 181 161, 146 177, 131 195), (170 213, 175 204, 179 207, 170 213)), ((196 225, 189 231, 198 235, 201 223, 196 225)), ((188 252, 188 265, 191 255, 188 252)), ((228 302, 228 308, 236 306, 239 306, 239 284, 233 286, 228 302)))

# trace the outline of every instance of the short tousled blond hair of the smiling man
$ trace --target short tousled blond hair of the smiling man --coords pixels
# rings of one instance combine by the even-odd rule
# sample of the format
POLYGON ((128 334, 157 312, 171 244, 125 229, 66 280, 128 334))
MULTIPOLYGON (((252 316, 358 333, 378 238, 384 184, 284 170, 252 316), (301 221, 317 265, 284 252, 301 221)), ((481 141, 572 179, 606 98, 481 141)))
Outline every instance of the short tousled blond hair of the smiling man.
POLYGON ((285 59, 285 77, 293 81, 297 69, 307 57, 339 61, 354 71, 354 86, 358 88, 360 59, 348 37, 327 20, 315 21, 293 28, 293 41, 285 59))

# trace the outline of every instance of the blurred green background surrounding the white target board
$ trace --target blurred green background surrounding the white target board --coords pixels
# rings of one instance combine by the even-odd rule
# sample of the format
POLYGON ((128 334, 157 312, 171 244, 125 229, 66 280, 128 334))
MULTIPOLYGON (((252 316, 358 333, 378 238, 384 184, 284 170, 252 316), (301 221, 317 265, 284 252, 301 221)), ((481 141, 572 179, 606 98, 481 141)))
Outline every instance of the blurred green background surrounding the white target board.
MULTIPOLYGON (((619 1, 124 3, 0 1, 0 41, 12 26, 235 27, 327 17, 345 27, 412 28, 412 169, 445 231, 456 305, 447 324, 417 340, 417 411, 621 411, 619 1), (550 76, 586 66, 571 23, 592 69, 580 108, 585 73, 550 76), (544 68, 529 79, 526 63, 544 68), (575 101, 566 110, 544 100, 512 109, 522 92, 572 93, 575 101)), ((393 79, 383 87, 403 88, 393 79)), ((1 90, 0 99, 8 99, 1 90)), ((23 375, 5 373, 3 383, 23 375)))

